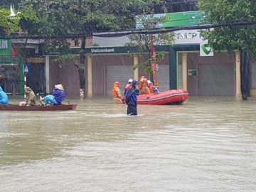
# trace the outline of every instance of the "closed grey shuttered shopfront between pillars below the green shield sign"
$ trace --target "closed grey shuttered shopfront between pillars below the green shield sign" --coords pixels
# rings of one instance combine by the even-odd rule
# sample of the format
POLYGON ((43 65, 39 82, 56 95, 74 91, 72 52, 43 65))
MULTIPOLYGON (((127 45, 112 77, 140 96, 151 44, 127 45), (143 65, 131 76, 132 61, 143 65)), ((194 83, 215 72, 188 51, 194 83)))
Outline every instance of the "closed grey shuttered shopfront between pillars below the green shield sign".
MULTIPOLYGON (((180 58, 180 57, 179 57, 180 58)), ((190 95, 235 95, 235 55, 214 53, 200 57, 188 53, 188 92, 190 95)))

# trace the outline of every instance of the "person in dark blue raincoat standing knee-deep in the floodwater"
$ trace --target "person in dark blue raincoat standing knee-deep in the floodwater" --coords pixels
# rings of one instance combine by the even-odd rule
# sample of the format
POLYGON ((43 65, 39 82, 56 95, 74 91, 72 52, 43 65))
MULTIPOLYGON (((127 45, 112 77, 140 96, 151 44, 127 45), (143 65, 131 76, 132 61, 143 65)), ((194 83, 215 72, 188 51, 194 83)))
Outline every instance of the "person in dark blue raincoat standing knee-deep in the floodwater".
POLYGON ((132 80, 132 87, 129 88, 125 95, 127 115, 137 115, 137 95, 139 95, 139 90, 136 87, 137 85, 138 81, 132 80))

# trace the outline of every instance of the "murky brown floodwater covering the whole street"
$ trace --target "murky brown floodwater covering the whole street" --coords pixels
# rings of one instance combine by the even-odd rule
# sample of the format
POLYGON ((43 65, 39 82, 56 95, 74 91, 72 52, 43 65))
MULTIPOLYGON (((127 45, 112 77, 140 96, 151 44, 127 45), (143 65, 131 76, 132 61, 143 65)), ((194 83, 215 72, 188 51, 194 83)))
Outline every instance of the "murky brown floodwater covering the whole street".
MULTIPOLYGON (((13 101, 17 102, 18 101, 13 101)), ((256 100, 0 112, 1 191, 255 191, 256 100)))

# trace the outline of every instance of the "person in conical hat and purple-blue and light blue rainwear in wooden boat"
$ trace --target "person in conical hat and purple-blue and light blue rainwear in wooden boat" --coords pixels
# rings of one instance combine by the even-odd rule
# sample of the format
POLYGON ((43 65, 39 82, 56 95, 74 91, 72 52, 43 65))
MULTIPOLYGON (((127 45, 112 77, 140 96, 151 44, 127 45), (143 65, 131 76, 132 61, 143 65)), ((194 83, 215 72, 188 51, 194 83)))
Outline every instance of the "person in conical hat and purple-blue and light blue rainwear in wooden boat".
POLYGON ((53 95, 46 95, 40 97, 40 102, 44 101, 46 105, 60 105, 65 98, 65 90, 62 84, 54 86, 53 95))

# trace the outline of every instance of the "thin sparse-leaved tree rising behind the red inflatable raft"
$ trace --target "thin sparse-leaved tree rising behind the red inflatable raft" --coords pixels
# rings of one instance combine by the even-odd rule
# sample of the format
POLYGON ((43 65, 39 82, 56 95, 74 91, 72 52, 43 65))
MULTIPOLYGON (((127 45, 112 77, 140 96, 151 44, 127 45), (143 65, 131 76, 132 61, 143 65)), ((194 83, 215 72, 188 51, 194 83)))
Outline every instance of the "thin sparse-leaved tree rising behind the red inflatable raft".
MULTIPOLYGON (((161 23, 167 19, 164 16, 154 17, 154 14, 137 16, 137 27, 144 29, 159 28, 161 27, 161 23)), ((144 63, 138 63, 135 68, 143 68, 144 73, 147 73, 149 78, 153 80, 152 59, 156 59, 156 63, 159 63, 164 59, 164 53, 158 52, 156 53, 156 58, 152 58, 151 43, 153 43, 153 46, 174 45, 174 33, 159 33, 156 35, 132 34, 128 38, 130 42, 127 43, 127 46, 137 46, 139 50, 146 52, 148 55, 148 59, 144 63)))

